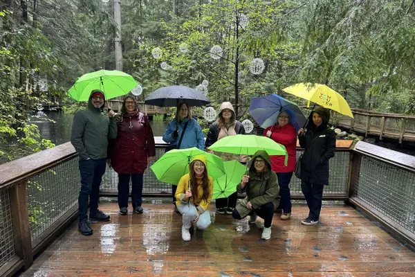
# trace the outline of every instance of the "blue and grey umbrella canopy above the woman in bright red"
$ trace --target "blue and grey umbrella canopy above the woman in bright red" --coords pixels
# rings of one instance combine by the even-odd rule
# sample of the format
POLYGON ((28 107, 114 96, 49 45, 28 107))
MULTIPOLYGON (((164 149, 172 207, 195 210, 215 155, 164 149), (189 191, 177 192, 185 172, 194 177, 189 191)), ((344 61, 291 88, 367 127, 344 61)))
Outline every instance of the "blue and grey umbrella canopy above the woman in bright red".
POLYGON ((297 104, 277 94, 252 98, 249 113, 259 126, 267 128, 277 122, 278 114, 283 109, 290 116, 290 121, 297 131, 304 126, 307 118, 297 104))

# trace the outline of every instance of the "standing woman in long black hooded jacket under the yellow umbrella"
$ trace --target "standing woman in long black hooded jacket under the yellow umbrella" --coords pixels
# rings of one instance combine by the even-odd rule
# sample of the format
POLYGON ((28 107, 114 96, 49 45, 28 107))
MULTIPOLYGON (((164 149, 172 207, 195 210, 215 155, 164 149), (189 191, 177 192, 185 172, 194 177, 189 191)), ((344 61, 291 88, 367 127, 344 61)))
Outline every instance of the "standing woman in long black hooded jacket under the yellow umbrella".
POLYGON ((301 188, 310 212, 302 224, 314 225, 320 219, 324 186, 329 185, 329 159, 335 153, 335 132, 327 124, 330 111, 313 109, 306 132, 298 130, 299 145, 304 148, 301 159, 301 188))

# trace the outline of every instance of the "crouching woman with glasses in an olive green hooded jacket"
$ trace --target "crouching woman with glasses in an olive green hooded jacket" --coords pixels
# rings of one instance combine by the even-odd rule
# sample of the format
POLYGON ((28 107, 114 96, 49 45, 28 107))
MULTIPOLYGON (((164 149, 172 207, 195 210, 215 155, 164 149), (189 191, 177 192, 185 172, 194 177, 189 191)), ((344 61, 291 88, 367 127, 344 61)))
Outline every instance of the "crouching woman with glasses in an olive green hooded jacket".
POLYGON ((250 215, 249 223, 257 220, 257 215, 264 219, 264 231, 261 238, 271 238, 271 223, 275 208, 279 204, 277 175, 271 170, 268 154, 259 150, 250 160, 249 175, 243 175, 237 186, 238 193, 246 193, 246 198, 237 204, 232 217, 237 220, 250 215))

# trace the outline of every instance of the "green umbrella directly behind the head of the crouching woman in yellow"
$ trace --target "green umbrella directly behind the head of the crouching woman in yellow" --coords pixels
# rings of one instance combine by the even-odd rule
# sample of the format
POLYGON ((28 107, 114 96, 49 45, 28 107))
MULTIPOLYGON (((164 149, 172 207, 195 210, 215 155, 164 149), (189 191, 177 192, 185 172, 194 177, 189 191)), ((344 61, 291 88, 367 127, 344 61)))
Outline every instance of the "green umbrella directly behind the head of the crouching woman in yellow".
POLYGON ((208 160, 208 175, 212 179, 216 180, 225 174, 223 160, 214 154, 199 150, 199 148, 170 150, 151 166, 151 170, 159 181, 177 185, 181 177, 189 172, 190 161, 201 154, 208 160))

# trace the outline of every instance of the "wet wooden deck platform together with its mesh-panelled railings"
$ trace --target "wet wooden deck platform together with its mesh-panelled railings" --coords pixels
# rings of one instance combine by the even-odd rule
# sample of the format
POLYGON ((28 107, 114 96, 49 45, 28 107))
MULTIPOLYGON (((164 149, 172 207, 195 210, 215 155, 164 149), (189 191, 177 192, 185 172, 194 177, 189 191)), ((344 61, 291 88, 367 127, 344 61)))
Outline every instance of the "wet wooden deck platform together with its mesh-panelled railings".
MULTIPOLYGON (((166 145, 156 143, 158 159, 166 145)), ((261 220, 216 215, 211 205, 212 225, 183 242, 171 186, 148 169, 144 213, 118 215, 116 202, 101 198, 111 221, 85 237, 77 231, 80 174, 70 143, 5 163, 0 276, 415 276, 415 157, 362 141, 337 146, 321 224, 300 224, 308 209, 293 177, 293 218, 276 213, 268 241, 259 239, 261 220)), ((117 183, 107 168, 101 194, 116 196, 117 183)))

